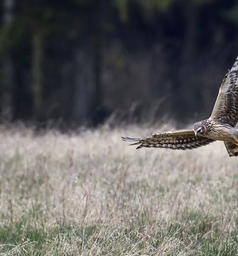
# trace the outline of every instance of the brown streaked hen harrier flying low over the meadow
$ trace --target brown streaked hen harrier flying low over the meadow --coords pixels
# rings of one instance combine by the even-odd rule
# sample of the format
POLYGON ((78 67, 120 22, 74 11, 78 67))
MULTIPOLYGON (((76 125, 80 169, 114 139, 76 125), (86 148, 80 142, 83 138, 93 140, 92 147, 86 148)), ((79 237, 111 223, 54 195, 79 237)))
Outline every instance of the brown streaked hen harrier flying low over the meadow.
POLYGON ((230 157, 238 156, 238 57, 223 79, 211 117, 193 124, 193 128, 154 133, 149 137, 123 141, 140 144, 137 148, 193 149, 214 141, 224 141, 230 157))

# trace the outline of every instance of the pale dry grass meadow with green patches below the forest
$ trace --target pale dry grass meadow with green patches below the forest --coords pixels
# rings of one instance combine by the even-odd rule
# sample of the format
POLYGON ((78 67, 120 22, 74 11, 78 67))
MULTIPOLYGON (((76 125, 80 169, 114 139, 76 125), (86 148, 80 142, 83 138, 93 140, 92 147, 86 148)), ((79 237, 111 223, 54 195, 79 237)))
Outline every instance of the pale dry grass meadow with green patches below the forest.
POLYGON ((237 255, 238 158, 120 138, 167 129, 0 127, 0 255, 237 255))

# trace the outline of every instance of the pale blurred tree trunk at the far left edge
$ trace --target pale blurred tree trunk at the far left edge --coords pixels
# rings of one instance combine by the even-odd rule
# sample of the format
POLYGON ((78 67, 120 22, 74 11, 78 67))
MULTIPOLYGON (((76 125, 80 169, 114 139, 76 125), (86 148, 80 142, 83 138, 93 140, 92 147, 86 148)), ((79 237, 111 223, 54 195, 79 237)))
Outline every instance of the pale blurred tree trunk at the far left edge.
MULTIPOLYGON (((10 26, 14 18, 14 0, 3 1, 3 26, 10 26)), ((12 91, 14 88, 14 68, 10 57, 10 52, 6 51, 2 57, 2 72, 4 74, 1 109, 2 119, 4 121, 11 121, 12 119, 12 91)))

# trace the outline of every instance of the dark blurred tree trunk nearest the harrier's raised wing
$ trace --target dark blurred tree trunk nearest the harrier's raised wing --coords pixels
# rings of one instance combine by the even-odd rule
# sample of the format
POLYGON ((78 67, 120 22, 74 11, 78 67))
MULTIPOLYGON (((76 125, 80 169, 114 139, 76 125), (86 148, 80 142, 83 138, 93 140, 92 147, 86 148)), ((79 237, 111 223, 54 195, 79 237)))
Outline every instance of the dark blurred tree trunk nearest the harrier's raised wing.
MULTIPOLYGON (((179 117, 183 118, 184 111, 192 115, 196 110, 198 99, 196 87, 196 72, 198 72, 198 59, 196 58, 197 36, 198 36, 198 5, 194 0, 184 1, 185 33, 183 46, 181 48, 180 63, 178 65, 178 81, 174 90, 176 105, 179 107, 179 117), (196 69, 195 69, 196 66, 196 69)), ((176 106, 174 105, 174 108, 176 106)))

